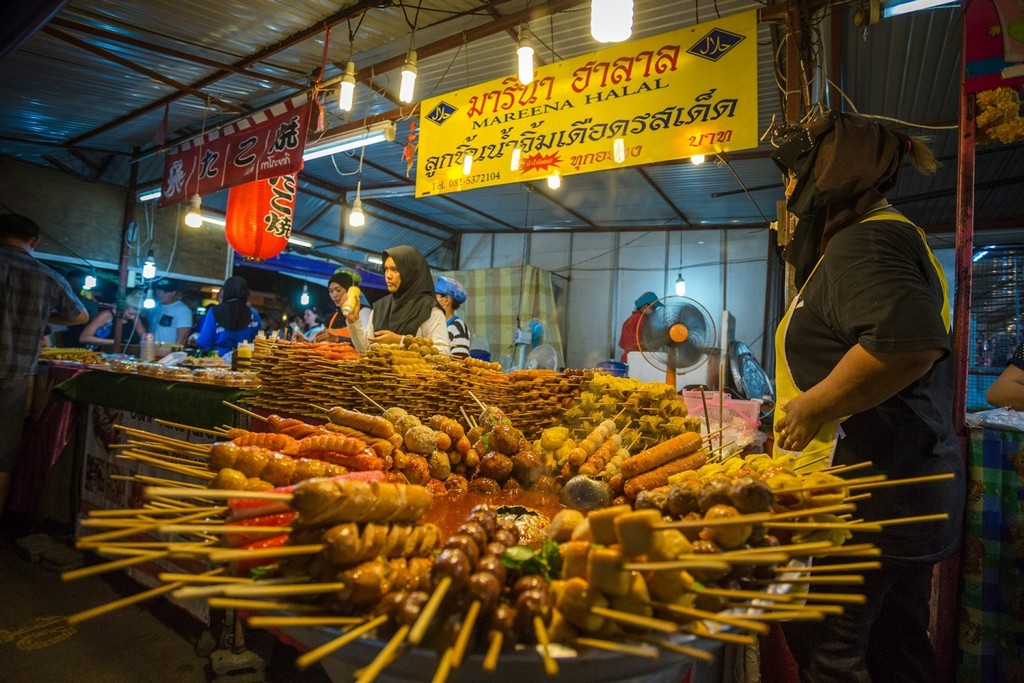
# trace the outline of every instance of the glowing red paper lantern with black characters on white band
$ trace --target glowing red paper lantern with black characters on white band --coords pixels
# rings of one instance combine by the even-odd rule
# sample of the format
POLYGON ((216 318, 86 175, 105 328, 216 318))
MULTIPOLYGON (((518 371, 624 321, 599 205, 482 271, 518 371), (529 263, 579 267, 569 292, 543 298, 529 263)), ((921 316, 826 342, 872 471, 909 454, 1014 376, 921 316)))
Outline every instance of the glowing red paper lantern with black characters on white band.
POLYGON ((227 190, 224 234, 231 249, 253 261, 284 251, 292 233, 295 187, 295 175, 289 174, 227 190))

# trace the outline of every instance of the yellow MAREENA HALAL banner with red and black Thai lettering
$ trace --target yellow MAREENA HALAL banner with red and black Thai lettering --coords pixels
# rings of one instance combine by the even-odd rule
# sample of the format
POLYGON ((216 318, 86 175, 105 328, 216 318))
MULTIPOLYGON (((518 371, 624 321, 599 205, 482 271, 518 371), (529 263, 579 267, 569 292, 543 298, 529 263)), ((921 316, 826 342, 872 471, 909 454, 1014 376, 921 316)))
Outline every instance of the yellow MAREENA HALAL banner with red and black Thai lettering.
POLYGON ((756 147, 757 14, 543 67, 525 86, 481 83, 420 112, 417 197, 756 147))

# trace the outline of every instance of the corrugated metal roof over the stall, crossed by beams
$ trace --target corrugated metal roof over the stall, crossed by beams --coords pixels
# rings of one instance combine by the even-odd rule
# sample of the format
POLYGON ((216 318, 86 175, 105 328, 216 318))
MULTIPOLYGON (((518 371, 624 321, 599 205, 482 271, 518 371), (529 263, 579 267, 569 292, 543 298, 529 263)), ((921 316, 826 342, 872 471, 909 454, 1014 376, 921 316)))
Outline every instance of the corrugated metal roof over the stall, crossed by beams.
MULTIPOLYGON (((420 50, 419 99, 511 75, 520 30, 530 36, 544 63, 599 47, 589 35, 586 2, 561 0, 554 4, 567 10, 506 23, 497 31, 492 28, 497 19, 523 12, 529 3, 417 4, 418 15, 413 3, 379 7, 371 0, 341 7, 336 0, 72 0, 54 22, 0 63, 0 154, 124 185, 132 151, 140 148, 138 178, 154 182, 163 172, 153 139, 165 102, 170 137, 180 140, 237 116, 218 102, 253 112, 301 92, 325 57, 326 24, 333 28, 325 79, 337 78, 350 57, 360 79, 353 112, 339 113, 333 101, 327 103, 327 129, 394 116, 399 65, 411 45, 420 50), (344 19, 347 15, 351 20, 344 19), (487 31, 493 32, 479 37, 487 31), (443 49, 431 47, 441 40, 447 41, 443 49), (104 52, 97 54, 99 50, 104 52), (384 61, 385 67, 374 67, 384 61), (196 92, 184 94, 175 84, 196 92), (75 153, 67 148, 70 142, 76 142, 75 153)), ((729 16, 759 7, 752 0, 722 0, 713 6, 638 1, 633 37, 707 22, 716 11, 729 16)), ((911 122, 955 122, 958 11, 914 13, 866 31, 853 27, 852 8, 831 11, 844 13, 838 85, 857 110, 911 122)), ((759 132, 781 111, 772 33, 769 25, 760 25, 759 132)), ((816 35, 818 56, 830 54, 830 38, 823 28, 816 35)), ((295 222, 303 232, 321 238, 325 253, 362 260, 366 251, 402 242, 433 253, 439 263, 454 254, 453 236, 466 231, 763 226, 774 218, 781 197, 778 172, 766 158, 770 147, 761 144, 760 155, 733 155, 728 165, 711 160, 694 167, 684 161, 568 176, 557 193, 515 184, 421 200, 408 193, 376 198, 367 206, 371 225, 359 232, 346 228, 342 234, 341 207, 352 200, 357 181, 368 190, 411 186, 401 157, 409 125, 408 120, 398 123, 394 143, 367 150, 361 173, 357 156, 306 165, 300 188, 307 189, 300 194, 295 222), (336 244, 339 240, 344 244, 336 244)), ((935 130, 930 135, 944 166, 932 178, 903 174, 894 199, 922 224, 949 226, 955 212, 957 134, 935 130)), ((1024 147, 980 148, 977 174, 976 221, 1019 222, 1024 147)), ((205 198, 204 204, 222 207, 224 199, 205 198)))

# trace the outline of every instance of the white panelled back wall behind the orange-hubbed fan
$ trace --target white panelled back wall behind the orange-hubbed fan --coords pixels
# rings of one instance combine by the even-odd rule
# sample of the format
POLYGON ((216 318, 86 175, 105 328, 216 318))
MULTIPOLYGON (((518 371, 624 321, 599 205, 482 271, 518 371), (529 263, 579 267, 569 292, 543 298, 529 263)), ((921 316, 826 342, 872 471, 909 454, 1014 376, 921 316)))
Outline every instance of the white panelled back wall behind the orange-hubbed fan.
POLYGON ((525 262, 555 273, 566 365, 593 368, 622 354, 618 331, 640 294, 675 294, 682 262, 686 296, 703 304, 716 326, 728 308, 735 338, 760 360, 768 243, 765 229, 466 234, 459 268, 525 262))

